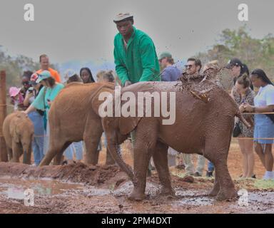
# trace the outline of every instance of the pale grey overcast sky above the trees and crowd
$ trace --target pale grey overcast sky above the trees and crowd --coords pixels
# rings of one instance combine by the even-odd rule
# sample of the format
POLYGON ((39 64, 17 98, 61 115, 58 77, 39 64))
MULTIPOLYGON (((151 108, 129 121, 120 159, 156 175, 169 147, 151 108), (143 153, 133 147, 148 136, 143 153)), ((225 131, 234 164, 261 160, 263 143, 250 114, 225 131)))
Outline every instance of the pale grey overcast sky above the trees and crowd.
POLYGON ((274 33, 273 0, 1 0, 0 45, 12 55, 51 62, 113 62, 113 17, 134 15, 135 26, 148 33, 157 53, 170 51, 178 59, 210 48, 225 28, 238 28, 238 4, 249 7, 250 33, 261 38, 274 33), (24 21, 24 4, 34 4, 35 20, 24 21))

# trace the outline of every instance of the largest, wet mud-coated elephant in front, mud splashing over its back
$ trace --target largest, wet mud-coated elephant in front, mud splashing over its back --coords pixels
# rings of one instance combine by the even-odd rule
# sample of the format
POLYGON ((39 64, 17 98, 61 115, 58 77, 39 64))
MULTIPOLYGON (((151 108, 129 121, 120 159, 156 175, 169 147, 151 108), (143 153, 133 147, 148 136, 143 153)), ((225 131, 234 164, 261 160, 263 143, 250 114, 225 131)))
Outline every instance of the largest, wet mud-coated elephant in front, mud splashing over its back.
MULTIPOLYGON (((205 80, 203 83, 205 86, 211 86, 210 81, 205 80)), ((145 197, 146 170, 151 156, 163 186, 161 194, 174 194, 168 170, 168 146, 184 153, 198 153, 213 162, 215 183, 213 190, 209 192, 210 196, 217 196, 217 199, 230 199, 236 196, 233 181, 228 173, 228 150, 234 117, 238 116, 245 125, 248 123, 243 119, 230 95, 218 86, 212 87, 213 89, 207 93, 206 102, 193 96, 190 91, 182 90, 181 82, 136 83, 123 88, 120 97, 113 95, 113 103, 117 103, 117 99, 121 100, 121 117, 103 118, 103 128, 114 160, 133 181, 134 187, 130 199, 141 200, 145 197), (143 110, 146 114, 151 113, 152 117, 149 115, 142 117, 137 113, 136 104, 139 102, 137 99, 140 92, 151 94, 144 95, 151 98, 151 107, 144 105, 143 110), (166 100, 161 96, 165 95, 163 92, 167 92, 166 100), (173 92, 173 95, 170 92, 173 92), (129 93, 133 93, 133 96, 129 93), (132 97, 133 100, 128 99, 132 97), (160 103, 156 103, 156 98, 159 98, 160 103), (163 110, 157 111, 158 108, 163 108, 165 103, 166 110, 175 117, 169 123, 164 122, 168 118, 163 110), (124 117, 123 110, 131 105, 136 108, 133 110, 133 115, 136 116, 124 117), (136 141, 133 148, 134 171, 132 172, 131 167, 117 155, 116 144, 121 143, 125 135, 133 130, 136 131, 136 141)), ((143 101, 143 104, 146 102, 143 101)))

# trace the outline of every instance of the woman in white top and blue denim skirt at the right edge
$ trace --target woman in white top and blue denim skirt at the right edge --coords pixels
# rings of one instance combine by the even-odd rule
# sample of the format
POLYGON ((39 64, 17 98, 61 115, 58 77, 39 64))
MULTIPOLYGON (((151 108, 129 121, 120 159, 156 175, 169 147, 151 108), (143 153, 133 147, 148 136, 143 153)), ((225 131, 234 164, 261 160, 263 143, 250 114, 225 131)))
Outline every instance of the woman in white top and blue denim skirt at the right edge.
MULTIPOLYGON (((254 98, 254 106, 244 105, 250 113, 274 112, 274 86, 265 72, 255 69, 250 76, 253 85, 259 88, 254 98)), ((254 142, 255 152, 265 167, 263 179, 274 180, 272 144, 274 138, 274 114, 255 114, 254 142), (269 138, 269 139, 268 139, 269 138)))

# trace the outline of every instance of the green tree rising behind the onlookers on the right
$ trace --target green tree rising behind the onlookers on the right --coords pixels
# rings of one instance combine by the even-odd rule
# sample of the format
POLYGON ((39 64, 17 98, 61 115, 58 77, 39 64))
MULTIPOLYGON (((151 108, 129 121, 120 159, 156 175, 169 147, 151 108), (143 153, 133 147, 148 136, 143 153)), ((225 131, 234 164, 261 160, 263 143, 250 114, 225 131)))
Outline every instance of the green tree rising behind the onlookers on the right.
POLYGON ((267 75, 274 79, 274 37, 268 34, 261 39, 253 38, 247 26, 238 30, 225 29, 220 33, 220 38, 205 53, 198 53, 203 63, 217 59, 225 65, 230 58, 240 58, 250 71, 262 68, 267 75))

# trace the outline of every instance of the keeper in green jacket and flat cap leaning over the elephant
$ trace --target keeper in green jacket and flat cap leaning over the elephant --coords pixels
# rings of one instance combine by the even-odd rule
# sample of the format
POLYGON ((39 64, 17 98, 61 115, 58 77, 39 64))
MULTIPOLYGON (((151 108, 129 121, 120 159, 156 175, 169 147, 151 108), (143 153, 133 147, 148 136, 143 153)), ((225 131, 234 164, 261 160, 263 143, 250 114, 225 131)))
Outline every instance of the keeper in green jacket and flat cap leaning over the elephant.
MULTIPOLYGON (((131 14, 118 14, 113 20, 119 33, 114 38, 116 73, 123 86, 139 81, 161 81, 160 67, 152 39, 133 26, 131 14)), ((136 131, 131 132, 133 147, 136 131)), ((151 175, 151 165, 148 168, 151 175)))

